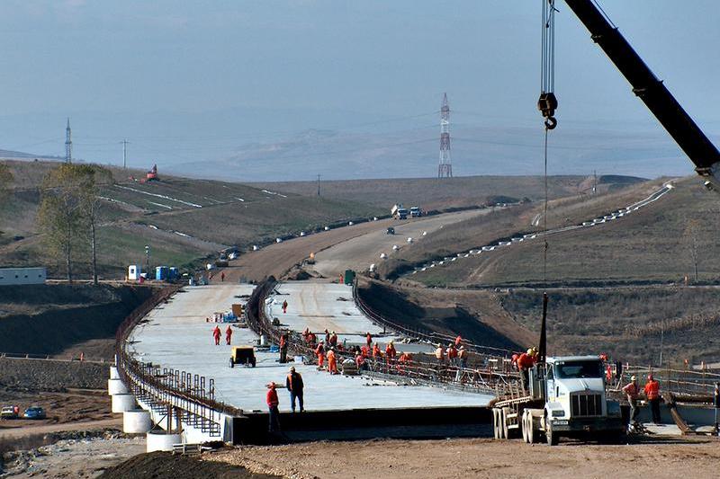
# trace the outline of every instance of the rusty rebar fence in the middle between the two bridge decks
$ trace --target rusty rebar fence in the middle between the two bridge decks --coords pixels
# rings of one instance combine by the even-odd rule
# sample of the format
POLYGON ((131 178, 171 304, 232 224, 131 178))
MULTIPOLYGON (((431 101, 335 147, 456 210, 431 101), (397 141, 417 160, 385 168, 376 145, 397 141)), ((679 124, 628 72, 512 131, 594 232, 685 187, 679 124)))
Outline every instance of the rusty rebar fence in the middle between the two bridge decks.
MULTIPOLYGON (((266 315, 266 305, 271 301, 271 294, 275 290, 277 281, 270 277, 257 285, 257 288, 247 300, 245 308, 248 327, 258 335, 263 335, 269 342, 280 343, 283 333, 287 334, 288 350, 294 355, 300 355, 308 362, 316 362, 315 347, 308 343, 302 333, 295 331, 282 332, 273 324, 273 318, 266 315)), ((343 363, 350 360, 356 364, 356 357, 352 351, 336 349, 338 370, 342 370, 343 363)), ((513 372, 511 362, 506 358, 490 357, 489 355, 469 354, 467 367, 461 368, 459 360, 455 362, 439 362, 432 355, 419 353, 412 359, 400 360, 399 357, 365 359, 365 369, 362 371, 371 377, 392 377, 393 380, 401 378, 403 381, 428 386, 444 386, 463 390, 474 390, 482 393, 494 393, 498 386, 509 385, 518 381, 518 373, 513 372)))

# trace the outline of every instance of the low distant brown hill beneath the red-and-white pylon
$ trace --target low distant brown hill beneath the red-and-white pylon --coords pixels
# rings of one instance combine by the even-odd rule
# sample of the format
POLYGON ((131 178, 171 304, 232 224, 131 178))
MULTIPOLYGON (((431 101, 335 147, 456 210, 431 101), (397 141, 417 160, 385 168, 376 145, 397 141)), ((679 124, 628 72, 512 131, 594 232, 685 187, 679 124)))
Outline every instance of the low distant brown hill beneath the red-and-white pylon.
MULTIPOLYGON (((642 181, 629 176, 599 178, 599 191, 615 189, 617 184, 642 181)), ((584 194, 591 190, 586 176, 553 176, 548 183, 551 198, 584 194)), ((258 188, 276 188, 305 196, 318 194, 317 182, 257 183, 258 188)), ((425 209, 462 208, 528 198, 545 198, 545 182, 540 176, 460 176, 455 178, 415 178, 392 180, 348 180, 321 182, 321 194, 336 200, 356 200, 381 208, 401 202, 425 209)))

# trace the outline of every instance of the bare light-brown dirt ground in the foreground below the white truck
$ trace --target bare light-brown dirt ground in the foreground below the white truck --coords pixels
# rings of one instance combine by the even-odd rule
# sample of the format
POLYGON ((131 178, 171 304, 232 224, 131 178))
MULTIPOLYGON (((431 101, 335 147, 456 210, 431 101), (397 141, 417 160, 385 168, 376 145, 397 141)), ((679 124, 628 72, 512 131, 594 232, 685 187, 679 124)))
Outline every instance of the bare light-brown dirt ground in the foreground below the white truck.
POLYGON ((241 447, 208 455, 213 461, 298 478, 392 477, 653 477, 716 474, 717 439, 645 439, 622 446, 519 440, 370 440, 241 447))

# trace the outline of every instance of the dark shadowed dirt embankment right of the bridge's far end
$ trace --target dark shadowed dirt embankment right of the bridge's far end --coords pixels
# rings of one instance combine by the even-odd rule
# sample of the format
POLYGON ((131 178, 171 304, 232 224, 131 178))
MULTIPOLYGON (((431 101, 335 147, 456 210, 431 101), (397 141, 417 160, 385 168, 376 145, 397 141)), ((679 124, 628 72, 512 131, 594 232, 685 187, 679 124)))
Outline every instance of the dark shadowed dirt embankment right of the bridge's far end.
POLYGON ((460 334, 483 346, 523 350, 536 336, 516 323, 487 293, 464 290, 397 288, 361 281, 358 295, 381 315, 408 327, 460 334))

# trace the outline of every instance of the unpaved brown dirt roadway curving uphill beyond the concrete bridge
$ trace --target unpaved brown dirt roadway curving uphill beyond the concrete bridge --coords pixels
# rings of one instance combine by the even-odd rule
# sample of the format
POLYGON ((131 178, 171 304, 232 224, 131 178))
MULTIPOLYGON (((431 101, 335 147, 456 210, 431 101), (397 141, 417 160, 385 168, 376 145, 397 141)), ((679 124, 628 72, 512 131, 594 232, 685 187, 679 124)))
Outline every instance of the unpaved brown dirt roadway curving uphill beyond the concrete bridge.
POLYGON ((259 281, 269 275, 282 278, 293 266, 299 264, 310 256, 316 254, 316 259, 323 258, 320 273, 329 278, 336 278, 340 271, 347 268, 364 270, 371 262, 380 261, 381 249, 392 253, 392 244, 406 244, 408 236, 416 238, 422 231, 436 230, 439 227, 462 221, 469 217, 485 214, 489 209, 473 209, 458 213, 445 213, 432 217, 421 217, 398 221, 395 219, 381 219, 359 223, 353 226, 321 231, 314 235, 307 235, 283 243, 271 244, 257 251, 241 255, 238 260, 229 263, 229 268, 214 271, 213 282, 220 280, 220 273, 225 272, 225 281, 238 282, 238 279, 259 281), (388 226, 393 226, 396 235, 386 235, 388 226), (322 254, 331 246, 342 244, 353 238, 362 237, 347 248, 339 251, 322 254), (342 255, 342 256, 338 256, 342 255), (347 255, 347 257, 346 257, 347 255), (323 272, 326 271, 326 272, 323 272))

